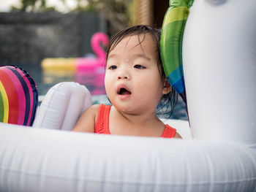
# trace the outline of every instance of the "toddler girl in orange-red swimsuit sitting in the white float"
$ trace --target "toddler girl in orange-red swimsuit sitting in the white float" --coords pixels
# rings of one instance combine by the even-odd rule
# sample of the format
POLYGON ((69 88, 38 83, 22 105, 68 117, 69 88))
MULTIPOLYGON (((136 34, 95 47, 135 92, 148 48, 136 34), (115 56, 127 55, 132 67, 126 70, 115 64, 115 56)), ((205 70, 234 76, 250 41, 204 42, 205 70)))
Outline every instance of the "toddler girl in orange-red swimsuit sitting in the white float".
MULTIPOLYGON (((169 104, 170 96, 177 98, 162 68, 160 34, 160 30, 149 26, 133 26, 111 39, 105 89, 113 106, 89 107, 72 131, 181 138, 156 114, 161 99, 169 104)), ((171 111, 173 107, 174 104, 171 111)))

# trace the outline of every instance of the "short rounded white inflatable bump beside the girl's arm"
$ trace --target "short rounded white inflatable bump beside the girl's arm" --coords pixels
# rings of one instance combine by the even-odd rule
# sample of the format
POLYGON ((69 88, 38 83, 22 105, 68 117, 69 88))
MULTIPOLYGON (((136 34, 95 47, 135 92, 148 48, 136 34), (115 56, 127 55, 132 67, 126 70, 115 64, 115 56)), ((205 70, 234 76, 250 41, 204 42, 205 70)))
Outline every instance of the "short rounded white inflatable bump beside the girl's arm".
POLYGON ((33 126, 70 131, 89 106, 91 94, 85 86, 77 82, 59 83, 45 95, 33 126))

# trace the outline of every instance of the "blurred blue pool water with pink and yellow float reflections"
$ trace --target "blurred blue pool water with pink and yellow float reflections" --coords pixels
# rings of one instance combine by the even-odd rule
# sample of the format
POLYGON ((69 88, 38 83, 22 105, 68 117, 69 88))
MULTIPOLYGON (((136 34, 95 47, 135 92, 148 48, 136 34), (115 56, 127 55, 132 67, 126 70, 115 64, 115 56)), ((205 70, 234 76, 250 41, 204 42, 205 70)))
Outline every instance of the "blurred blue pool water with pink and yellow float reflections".
MULTIPOLYGON (((81 85, 86 85, 91 93, 93 104, 110 104, 108 97, 105 94, 104 88, 104 69, 99 69, 97 72, 80 72, 74 73, 69 71, 51 71, 44 72, 40 64, 15 64, 26 70, 37 84, 39 94, 39 104, 44 98, 48 90, 59 82, 79 82, 81 85)), ((162 111, 157 112, 160 118, 163 118, 162 111)), ((180 97, 176 104, 176 110, 171 116, 173 119, 187 120, 187 112, 185 104, 180 97)))

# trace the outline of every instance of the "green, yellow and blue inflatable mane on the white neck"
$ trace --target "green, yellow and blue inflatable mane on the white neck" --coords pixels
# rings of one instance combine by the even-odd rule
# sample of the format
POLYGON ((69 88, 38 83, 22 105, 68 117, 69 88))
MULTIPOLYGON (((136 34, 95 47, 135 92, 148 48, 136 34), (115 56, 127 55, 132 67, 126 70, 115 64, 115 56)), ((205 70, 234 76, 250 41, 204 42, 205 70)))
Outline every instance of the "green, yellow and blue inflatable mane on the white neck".
POLYGON ((170 0, 160 40, 162 64, 173 89, 187 103, 182 66, 182 39, 189 8, 194 0, 170 0))

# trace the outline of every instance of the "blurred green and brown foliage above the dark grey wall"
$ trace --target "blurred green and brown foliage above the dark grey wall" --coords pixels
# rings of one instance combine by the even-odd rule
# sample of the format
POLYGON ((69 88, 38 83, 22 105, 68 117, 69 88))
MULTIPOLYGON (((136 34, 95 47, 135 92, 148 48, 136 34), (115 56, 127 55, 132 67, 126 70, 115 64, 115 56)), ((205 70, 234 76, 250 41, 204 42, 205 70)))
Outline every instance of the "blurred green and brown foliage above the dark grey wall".
MULTIPOLYGON (((1 1, 1 0, 0 0, 1 1)), ((50 0, 20 0, 20 7, 12 7, 12 11, 45 12, 56 11, 58 7, 48 7, 50 0)), ((133 24, 135 0, 75 0, 76 7, 67 6, 67 0, 59 0, 66 12, 94 12, 105 18, 110 23, 110 33, 115 33, 121 28, 133 24)))

